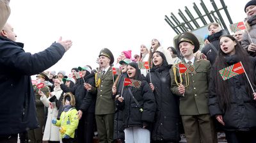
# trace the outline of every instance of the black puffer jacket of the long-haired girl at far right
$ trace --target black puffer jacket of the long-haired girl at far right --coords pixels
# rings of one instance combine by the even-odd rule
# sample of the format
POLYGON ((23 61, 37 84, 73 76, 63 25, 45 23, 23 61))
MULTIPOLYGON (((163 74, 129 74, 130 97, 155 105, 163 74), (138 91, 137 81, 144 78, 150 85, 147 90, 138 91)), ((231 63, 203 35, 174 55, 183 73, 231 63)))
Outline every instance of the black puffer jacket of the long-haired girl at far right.
MULTIPOLYGON (((252 62, 252 69, 255 71, 256 59, 250 58, 250 62, 252 62)), ((239 61, 232 60, 232 62, 228 61, 228 65, 232 65, 239 61)), ((228 80, 229 88, 230 88, 230 109, 223 112, 220 109, 220 105, 218 103, 218 97, 216 96, 216 87, 214 80, 214 71, 215 66, 212 67, 211 71, 211 79, 209 84, 209 111, 211 116, 222 115, 223 122, 225 126, 222 126, 223 130, 240 130, 240 131, 248 131, 252 129, 256 129, 256 101, 253 100, 252 95, 249 95, 246 91, 245 81, 247 80, 243 77, 243 74, 236 75, 228 80)))

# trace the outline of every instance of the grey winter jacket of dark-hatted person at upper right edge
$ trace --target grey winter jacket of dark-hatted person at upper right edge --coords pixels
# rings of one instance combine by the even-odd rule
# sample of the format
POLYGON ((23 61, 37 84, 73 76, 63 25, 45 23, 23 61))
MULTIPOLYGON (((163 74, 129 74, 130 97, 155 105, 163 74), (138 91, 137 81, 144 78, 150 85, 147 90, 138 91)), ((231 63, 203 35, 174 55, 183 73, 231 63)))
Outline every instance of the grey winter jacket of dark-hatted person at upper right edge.
POLYGON ((244 49, 246 49, 246 51, 248 52, 248 54, 250 54, 250 56, 255 57, 256 52, 250 52, 247 49, 250 43, 256 43, 256 34, 255 34, 256 33, 256 15, 253 15, 252 17, 250 17, 247 20, 247 23, 250 26, 250 30, 248 30, 250 36, 248 35, 247 32, 245 32, 243 35, 243 39, 241 41, 241 45, 244 49))

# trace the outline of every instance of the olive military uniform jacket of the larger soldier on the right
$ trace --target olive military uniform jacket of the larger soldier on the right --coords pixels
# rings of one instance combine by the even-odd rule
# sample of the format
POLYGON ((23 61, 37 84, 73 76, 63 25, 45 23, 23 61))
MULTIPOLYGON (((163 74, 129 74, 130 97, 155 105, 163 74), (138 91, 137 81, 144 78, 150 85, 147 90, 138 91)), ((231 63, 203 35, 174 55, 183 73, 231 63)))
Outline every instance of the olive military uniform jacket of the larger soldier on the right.
MULTIPOLYGON (((185 63, 183 60, 182 63, 185 63)), ((173 67, 171 70, 171 90, 174 94, 180 96, 180 115, 200 115, 209 114, 208 109, 208 85, 211 64, 209 61, 196 59, 194 61, 196 74, 188 73, 186 87, 186 76, 182 73, 182 85, 185 86, 185 94, 179 93, 175 82, 173 67)), ((176 66, 177 67, 177 66, 176 66)), ((177 81, 180 82, 179 71, 176 69, 177 81)))

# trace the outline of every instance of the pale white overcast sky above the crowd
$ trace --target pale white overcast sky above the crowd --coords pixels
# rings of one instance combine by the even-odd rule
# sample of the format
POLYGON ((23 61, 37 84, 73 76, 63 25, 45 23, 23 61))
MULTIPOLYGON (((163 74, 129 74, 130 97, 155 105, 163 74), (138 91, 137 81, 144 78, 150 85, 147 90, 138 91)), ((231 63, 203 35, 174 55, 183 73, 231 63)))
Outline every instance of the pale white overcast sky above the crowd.
MULTIPOLYGON (((199 0, 12 0, 8 22, 14 27, 17 41, 25 44, 26 52, 40 52, 60 36, 72 40, 72 48, 49 69, 69 73, 71 68, 85 64, 96 68, 95 61, 105 47, 116 59, 123 50, 139 54, 140 45, 149 48, 152 38, 157 38, 163 47, 172 46, 177 34, 165 22, 164 15, 170 17, 173 12, 179 17, 178 9, 184 12, 184 6, 194 14, 193 2, 202 10, 199 0)), ((215 2, 221 6, 219 0, 215 2)), ((247 2, 225 0, 234 23, 246 17, 247 2)), ((204 3, 209 11, 213 10, 210 0, 204 3)))

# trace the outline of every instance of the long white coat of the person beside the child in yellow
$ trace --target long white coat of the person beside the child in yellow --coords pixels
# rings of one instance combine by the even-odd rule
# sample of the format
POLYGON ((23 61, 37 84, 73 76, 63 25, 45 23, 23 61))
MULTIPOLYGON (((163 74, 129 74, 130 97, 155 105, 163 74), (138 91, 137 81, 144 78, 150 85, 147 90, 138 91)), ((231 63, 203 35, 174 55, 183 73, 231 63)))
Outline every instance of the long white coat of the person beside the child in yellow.
MULTIPOLYGON (((56 96, 56 99, 59 100, 62 92, 63 91, 61 89, 56 89, 56 87, 54 87, 52 96, 56 96)), ((42 103, 44 103, 45 107, 48 108, 47 121, 45 124, 43 140, 60 141, 60 128, 52 124, 52 119, 56 119, 58 116, 58 109, 56 107, 55 102, 49 102, 50 98, 50 96, 49 98, 47 98, 46 96, 40 98, 42 103)))

